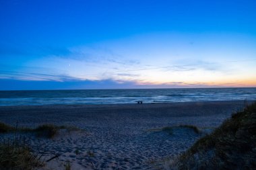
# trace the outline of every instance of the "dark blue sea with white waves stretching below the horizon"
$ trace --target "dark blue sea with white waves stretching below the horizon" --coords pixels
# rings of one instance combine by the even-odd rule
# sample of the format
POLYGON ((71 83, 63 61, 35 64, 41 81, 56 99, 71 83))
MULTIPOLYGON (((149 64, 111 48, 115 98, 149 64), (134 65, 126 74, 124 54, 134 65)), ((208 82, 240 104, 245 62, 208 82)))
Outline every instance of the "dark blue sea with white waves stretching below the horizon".
POLYGON ((0 91, 0 106, 256 100, 256 88, 0 91))

